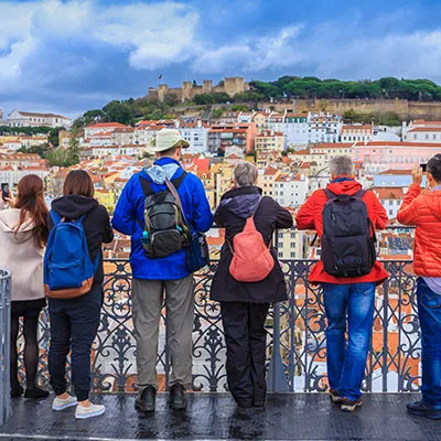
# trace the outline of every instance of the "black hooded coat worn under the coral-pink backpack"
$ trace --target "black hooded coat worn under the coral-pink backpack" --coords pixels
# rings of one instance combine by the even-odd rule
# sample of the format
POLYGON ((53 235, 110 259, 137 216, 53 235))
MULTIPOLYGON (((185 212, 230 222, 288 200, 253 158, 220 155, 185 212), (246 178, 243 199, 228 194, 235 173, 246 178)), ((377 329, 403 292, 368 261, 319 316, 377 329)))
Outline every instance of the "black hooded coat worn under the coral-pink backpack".
MULTIPOLYGON (((215 223, 225 227, 225 238, 233 244, 234 237, 241 233, 246 219, 255 214, 261 198, 261 189, 245 186, 232 190, 224 194, 216 214, 215 223)), ((255 224, 263 236, 266 244, 272 241, 277 228, 292 227, 290 212, 281 207, 269 196, 261 198, 260 206, 255 215, 255 224)), ((211 299, 226 302, 270 303, 287 300, 287 283, 278 262, 277 250, 271 248, 276 265, 269 276, 260 282, 238 282, 229 273, 233 259, 227 243, 220 250, 220 261, 214 276, 211 299)))

